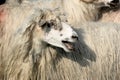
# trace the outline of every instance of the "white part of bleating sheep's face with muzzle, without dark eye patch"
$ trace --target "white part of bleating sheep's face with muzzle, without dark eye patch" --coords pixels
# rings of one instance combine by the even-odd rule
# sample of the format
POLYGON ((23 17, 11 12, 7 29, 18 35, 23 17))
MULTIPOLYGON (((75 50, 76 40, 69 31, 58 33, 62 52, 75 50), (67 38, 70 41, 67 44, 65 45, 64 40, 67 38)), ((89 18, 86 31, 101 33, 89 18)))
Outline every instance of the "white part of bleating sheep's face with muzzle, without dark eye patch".
POLYGON ((69 52, 74 49, 73 43, 77 40, 78 36, 69 25, 63 22, 61 25, 61 30, 51 28, 51 30, 45 34, 44 41, 69 52))

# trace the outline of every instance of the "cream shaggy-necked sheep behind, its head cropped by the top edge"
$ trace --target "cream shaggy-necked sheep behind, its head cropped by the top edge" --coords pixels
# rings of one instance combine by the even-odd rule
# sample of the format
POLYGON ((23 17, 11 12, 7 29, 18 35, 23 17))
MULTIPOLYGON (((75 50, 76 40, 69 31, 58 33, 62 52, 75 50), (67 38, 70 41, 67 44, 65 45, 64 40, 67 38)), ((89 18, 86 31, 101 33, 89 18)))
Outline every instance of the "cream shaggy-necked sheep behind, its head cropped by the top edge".
POLYGON ((67 21, 74 27, 88 21, 98 21, 101 7, 108 6, 112 0, 7 0, 10 4, 34 4, 39 8, 59 9, 67 16, 67 21))

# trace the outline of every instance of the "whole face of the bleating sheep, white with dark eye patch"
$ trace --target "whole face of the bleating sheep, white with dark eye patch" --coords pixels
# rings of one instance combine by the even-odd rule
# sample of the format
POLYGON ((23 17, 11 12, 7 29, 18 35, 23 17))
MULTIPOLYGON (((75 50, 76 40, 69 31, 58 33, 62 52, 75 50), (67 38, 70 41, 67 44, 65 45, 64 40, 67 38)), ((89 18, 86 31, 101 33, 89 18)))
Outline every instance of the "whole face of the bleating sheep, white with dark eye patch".
POLYGON ((43 42, 62 48, 66 52, 74 50, 73 44, 77 41, 78 35, 68 24, 52 19, 45 21, 39 27, 43 42))

